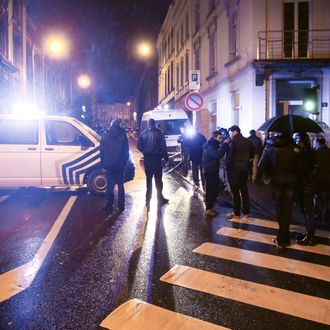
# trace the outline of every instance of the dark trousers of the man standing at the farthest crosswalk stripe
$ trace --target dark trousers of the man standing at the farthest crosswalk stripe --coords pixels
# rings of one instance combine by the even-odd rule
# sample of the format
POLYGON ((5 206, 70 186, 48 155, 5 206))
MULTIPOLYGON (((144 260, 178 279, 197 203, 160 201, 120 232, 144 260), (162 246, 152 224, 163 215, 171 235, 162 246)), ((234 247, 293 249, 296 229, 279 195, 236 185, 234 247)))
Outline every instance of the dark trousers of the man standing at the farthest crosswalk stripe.
POLYGON ((250 202, 247 187, 248 171, 228 171, 228 182, 233 195, 233 210, 237 216, 241 215, 241 205, 243 214, 249 214, 250 202))

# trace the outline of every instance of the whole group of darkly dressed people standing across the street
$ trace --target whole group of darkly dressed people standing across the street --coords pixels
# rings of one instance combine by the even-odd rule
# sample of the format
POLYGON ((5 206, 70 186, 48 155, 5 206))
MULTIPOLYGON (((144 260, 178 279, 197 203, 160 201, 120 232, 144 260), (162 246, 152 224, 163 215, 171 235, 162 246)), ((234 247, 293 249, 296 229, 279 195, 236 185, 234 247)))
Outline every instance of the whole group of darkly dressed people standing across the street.
MULTIPOLYGON (((255 130, 245 138, 237 125, 228 130, 219 129, 209 140, 199 133, 183 136, 182 146, 189 152, 192 176, 196 187, 202 184, 205 190, 205 215, 214 217, 218 212, 214 204, 223 182, 220 179, 220 161, 224 159, 228 184, 232 193, 233 211, 228 219, 249 217, 250 204, 248 179, 257 180, 258 170, 271 177, 272 196, 275 202, 279 230, 274 239, 278 247, 290 245, 289 226, 295 196, 306 219, 306 232, 297 236, 297 243, 314 245, 315 217, 314 196, 324 192, 324 217, 329 217, 330 149, 324 138, 317 139, 313 150, 306 133, 297 134, 295 142, 290 134, 278 133, 265 140, 256 136, 255 130)), ((169 202, 163 196, 162 160, 168 161, 165 137, 154 119, 149 119, 147 128, 141 133, 137 148, 143 153, 146 173, 146 207, 149 210, 152 195, 152 179, 155 179, 158 205, 169 202)), ((125 208, 124 170, 129 157, 126 133, 120 122, 114 120, 101 141, 101 161, 107 169, 107 204, 105 209, 113 211, 114 186, 118 185, 118 209, 125 208)))

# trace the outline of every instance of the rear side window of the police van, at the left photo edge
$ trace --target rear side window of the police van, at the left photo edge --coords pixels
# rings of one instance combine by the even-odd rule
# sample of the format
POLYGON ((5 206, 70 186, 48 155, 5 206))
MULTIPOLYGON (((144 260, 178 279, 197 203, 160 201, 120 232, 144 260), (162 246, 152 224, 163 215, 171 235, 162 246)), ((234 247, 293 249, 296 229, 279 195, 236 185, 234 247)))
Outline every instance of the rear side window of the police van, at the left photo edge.
POLYGON ((38 144, 38 120, 0 120, 0 144, 38 144))

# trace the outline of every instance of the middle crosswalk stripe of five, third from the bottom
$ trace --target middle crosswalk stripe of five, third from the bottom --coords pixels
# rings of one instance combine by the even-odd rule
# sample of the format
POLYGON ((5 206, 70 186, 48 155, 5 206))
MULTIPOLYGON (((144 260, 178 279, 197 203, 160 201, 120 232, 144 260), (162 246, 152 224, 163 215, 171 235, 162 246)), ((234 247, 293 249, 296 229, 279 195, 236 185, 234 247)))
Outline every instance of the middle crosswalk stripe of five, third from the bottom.
POLYGON ((203 243, 193 252, 330 282, 330 267, 310 262, 242 250, 214 243, 203 243))

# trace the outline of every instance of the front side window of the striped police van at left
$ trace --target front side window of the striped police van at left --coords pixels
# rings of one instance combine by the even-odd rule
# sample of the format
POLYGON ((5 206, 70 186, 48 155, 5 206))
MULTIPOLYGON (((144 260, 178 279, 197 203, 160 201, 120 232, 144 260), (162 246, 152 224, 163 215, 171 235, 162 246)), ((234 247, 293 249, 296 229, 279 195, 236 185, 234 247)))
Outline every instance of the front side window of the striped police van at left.
MULTIPOLYGON (((48 145, 81 146, 83 134, 65 121, 46 121, 46 142, 48 145)), ((86 139, 86 137, 85 137, 86 139)))

